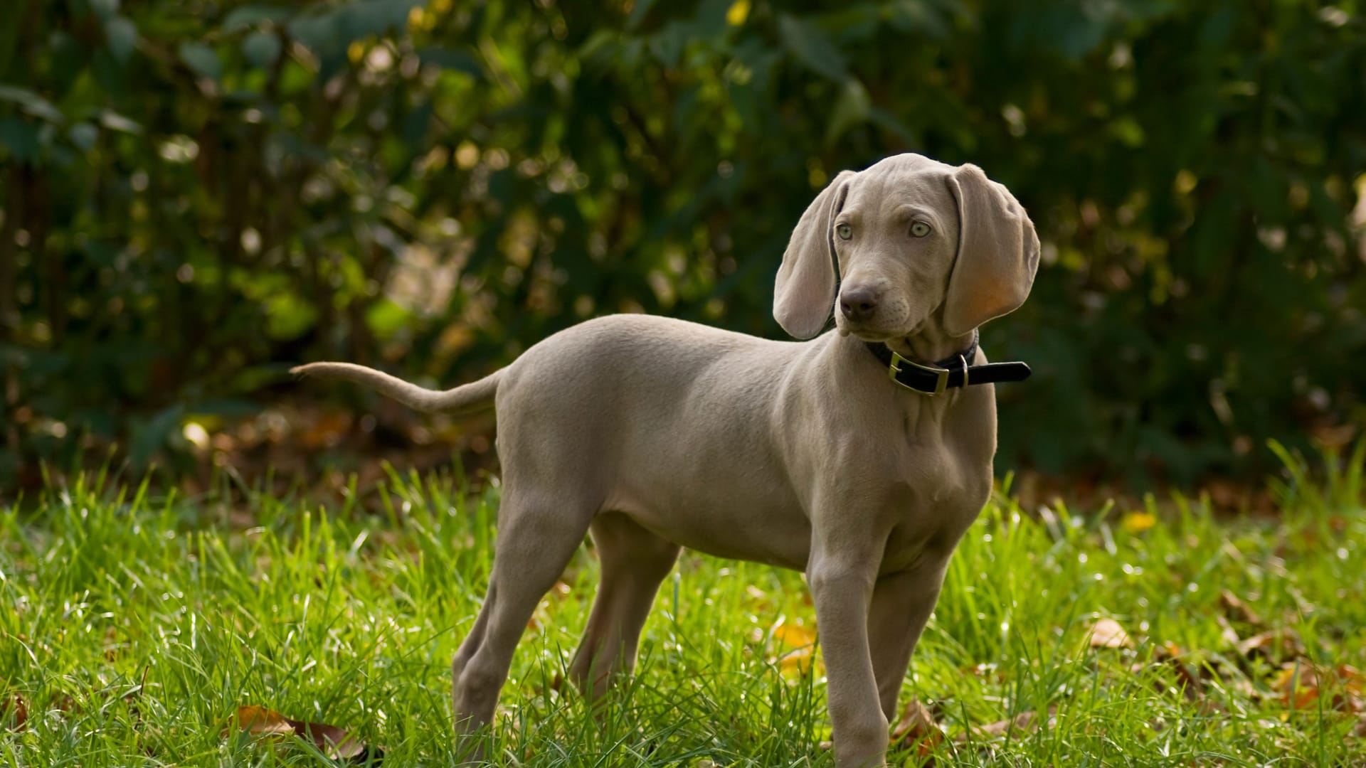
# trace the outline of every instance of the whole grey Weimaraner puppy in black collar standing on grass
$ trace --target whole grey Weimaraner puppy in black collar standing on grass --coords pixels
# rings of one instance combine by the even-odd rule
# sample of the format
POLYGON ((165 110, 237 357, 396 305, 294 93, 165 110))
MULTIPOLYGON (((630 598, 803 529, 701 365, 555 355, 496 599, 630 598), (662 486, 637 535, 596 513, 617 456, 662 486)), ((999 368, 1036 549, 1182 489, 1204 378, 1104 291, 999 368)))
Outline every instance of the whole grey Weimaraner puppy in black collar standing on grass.
POLYGON ((425 411, 496 409, 503 506, 489 592, 451 664, 456 732, 492 720, 531 612, 591 533, 602 577, 571 663, 587 696, 632 668, 682 547, 803 570, 835 763, 882 765, 911 650, 990 495, 992 383, 1029 374, 986 365, 977 328, 1020 306, 1038 251, 978 167, 897 154, 841 172, 792 232, 773 316, 811 340, 623 314, 447 391, 296 368, 425 411))

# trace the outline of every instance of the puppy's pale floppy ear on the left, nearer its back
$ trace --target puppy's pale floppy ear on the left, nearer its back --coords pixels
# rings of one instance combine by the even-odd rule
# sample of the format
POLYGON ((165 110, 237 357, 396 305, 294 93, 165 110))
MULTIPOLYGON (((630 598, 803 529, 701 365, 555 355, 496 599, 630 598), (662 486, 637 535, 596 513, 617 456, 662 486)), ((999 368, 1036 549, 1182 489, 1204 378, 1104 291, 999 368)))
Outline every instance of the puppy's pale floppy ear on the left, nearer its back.
POLYGON ((773 284, 773 318, 798 339, 825 328, 835 306, 835 241, 831 221, 844 205, 854 171, 841 171, 806 206, 783 253, 773 284))

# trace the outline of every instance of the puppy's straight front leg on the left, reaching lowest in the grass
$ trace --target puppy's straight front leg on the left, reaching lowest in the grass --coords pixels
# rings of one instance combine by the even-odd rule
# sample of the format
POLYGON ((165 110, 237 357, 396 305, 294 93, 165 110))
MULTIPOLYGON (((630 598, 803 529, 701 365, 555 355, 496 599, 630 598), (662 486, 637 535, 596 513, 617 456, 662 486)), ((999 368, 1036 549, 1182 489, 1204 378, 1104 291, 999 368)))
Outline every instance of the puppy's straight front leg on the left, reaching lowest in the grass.
POLYGON ((807 567, 829 681, 839 768, 878 767, 887 761, 887 716, 878 702, 867 644, 867 609, 882 543, 877 544, 866 552, 822 551, 818 545, 807 567))

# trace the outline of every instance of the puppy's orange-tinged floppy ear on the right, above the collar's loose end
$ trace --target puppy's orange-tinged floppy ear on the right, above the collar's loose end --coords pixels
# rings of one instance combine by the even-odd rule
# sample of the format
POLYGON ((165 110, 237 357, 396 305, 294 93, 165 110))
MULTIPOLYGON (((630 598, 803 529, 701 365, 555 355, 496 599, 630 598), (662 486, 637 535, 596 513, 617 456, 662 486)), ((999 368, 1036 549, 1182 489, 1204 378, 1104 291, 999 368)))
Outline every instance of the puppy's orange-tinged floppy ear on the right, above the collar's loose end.
POLYGON ((958 258, 944 299, 944 331, 962 336, 1019 309, 1038 269, 1038 235, 1004 186, 977 165, 948 176, 958 201, 958 258))

